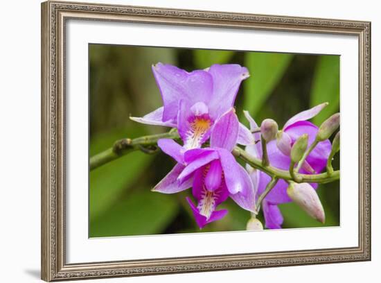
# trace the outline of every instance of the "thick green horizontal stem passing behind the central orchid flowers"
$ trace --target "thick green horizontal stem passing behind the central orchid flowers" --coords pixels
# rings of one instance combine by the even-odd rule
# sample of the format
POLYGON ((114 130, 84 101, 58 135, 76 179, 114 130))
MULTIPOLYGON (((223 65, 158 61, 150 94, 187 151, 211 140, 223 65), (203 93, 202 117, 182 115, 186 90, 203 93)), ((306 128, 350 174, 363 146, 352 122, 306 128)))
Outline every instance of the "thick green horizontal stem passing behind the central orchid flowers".
MULTIPOLYGON (((179 139, 179 135, 176 131, 170 131, 159 135, 150 135, 145 137, 138 137, 136 139, 121 139, 116 141, 112 148, 108 148, 102 153, 98 153, 90 158, 90 170, 94 170, 103 164, 116 160, 127 153, 132 151, 143 151, 145 153, 154 153, 157 151, 157 141, 159 139, 179 139)), ((246 162, 251 167, 263 171, 270 175, 271 177, 283 179, 283 180, 294 180, 290 175, 289 171, 277 169, 273 166, 263 166, 262 160, 252 155, 249 155, 242 148, 236 146, 231 152, 235 157, 240 158, 240 160, 246 162)), ((320 173, 320 174, 300 174, 295 173, 296 182, 317 182, 317 183, 327 183, 339 180, 340 171, 333 171, 333 173, 320 173)))

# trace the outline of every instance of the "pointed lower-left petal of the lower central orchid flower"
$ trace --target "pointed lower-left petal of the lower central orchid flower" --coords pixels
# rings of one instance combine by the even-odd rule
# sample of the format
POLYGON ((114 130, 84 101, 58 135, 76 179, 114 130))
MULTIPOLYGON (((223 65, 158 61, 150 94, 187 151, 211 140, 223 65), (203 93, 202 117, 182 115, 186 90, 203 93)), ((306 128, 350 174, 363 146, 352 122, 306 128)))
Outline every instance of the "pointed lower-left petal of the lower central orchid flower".
POLYGON ((193 178, 188 178, 188 180, 180 183, 177 178, 181 171, 183 171, 184 165, 177 163, 173 169, 163 178, 152 191, 158 191, 163 194, 175 194, 179 191, 184 191, 192 187, 193 178))

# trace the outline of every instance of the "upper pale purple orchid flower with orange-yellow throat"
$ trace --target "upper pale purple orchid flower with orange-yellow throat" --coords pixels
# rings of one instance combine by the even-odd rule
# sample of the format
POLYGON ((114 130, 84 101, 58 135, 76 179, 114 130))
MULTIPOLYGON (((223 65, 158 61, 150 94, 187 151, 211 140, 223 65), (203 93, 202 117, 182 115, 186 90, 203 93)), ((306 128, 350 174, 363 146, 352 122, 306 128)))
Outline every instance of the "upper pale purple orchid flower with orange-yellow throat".
MULTIPOLYGON (((240 83, 249 71, 240 65, 212 65, 190 73, 172 65, 152 66, 163 106, 139 123, 177 128, 184 148, 200 148, 222 114, 233 107, 240 83)), ((240 124, 238 143, 251 142, 249 130, 240 124)))

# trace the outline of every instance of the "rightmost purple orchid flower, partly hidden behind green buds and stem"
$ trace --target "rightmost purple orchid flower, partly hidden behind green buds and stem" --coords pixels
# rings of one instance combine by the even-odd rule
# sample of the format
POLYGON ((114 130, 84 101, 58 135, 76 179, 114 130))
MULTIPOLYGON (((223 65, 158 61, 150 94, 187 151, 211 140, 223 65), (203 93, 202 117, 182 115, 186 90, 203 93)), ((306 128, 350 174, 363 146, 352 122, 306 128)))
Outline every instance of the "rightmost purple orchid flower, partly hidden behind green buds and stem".
MULTIPOLYGON (((312 144, 319 128, 306 120, 316 116, 326 105, 327 103, 323 103, 310 110, 305 110, 296 114, 285 123, 283 130, 279 132, 281 137, 279 137, 278 140, 269 141, 267 144, 267 154, 272 166, 283 170, 288 170, 290 168, 290 151, 296 139, 301 135, 308 134, 308 146, 312 144)), ((250 117, 248 112, 245 112, 245 117, 250 123, 251 130, 258 128, 256 122, 250 117)), ((254 134, 254 138, 259 140, 260 134, 254 134)), ((249 145, 245 150, 255 157, 262 157, 260 143, 249 145)), ((299 172, 306 174, 320 173, 326 167, 330 151, 331 144, 329 140, 319 142, 314 150, 308 155, 305 164, 303 164, 299 172)), ((271 178, 266 173, 252 169, 250 166, 247 166, 247 170, 254 182, 254 186, 258 187, 257 195, 262 194, 271 178)), ((314 189, 317 189, 317 184, 310 185, 314 187, 314 189)), ((278 208, 278 204, 292 201, 290 197, 287 196, 287 186, 285 180, 279 180, 276 186, 263 200, 262 207, 265 216, 265 226, 269 229, 281 228, 283 216, 278 208)))

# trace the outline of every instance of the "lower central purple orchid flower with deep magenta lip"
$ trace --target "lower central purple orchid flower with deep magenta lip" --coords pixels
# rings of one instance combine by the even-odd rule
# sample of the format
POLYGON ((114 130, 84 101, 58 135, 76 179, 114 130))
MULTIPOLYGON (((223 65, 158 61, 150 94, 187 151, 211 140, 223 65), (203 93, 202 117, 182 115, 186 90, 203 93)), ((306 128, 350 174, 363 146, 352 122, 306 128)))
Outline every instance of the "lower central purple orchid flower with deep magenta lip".
POLYGON ((227 214, 227 209, 215 209, 228 197, 243 209, 255 212, 253 182, 231 154, 238 132, 238 117, 231 108, 215 122, 210 148, 193 148, 183 152, 183 148, 172 139, 159 139, 159 147, 178 163, 152 191, 173 194, 193 187, 197 205, 190 198, 187 201, 200 229, 227 214))

